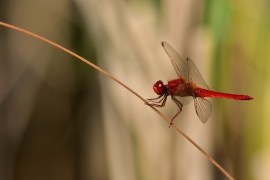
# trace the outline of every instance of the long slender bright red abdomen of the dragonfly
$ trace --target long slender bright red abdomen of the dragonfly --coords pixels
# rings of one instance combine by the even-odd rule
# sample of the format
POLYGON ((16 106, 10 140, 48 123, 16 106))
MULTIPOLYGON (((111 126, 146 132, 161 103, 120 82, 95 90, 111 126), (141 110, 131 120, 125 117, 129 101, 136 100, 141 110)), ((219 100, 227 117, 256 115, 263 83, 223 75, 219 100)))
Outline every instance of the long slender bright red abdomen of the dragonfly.
POLYGON ((235 100, 251 100, 253 97, 247 95, 238 95, 238 94, 228 94, 210 91, 201 88, 195 88, 195 93, 199 97, 213 97, 213 98, 227 98, 227 99, 235 99, 235 100))

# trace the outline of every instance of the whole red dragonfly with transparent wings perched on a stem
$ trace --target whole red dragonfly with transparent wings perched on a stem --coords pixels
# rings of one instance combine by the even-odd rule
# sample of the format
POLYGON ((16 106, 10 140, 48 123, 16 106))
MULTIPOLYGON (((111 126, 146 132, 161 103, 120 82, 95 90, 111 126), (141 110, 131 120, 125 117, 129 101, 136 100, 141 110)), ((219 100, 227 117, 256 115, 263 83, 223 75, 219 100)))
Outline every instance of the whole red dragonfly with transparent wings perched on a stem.
POLYGON ((212 113, 211 103, 205 97, 227 98, 235 100, 252 100, 253 97, 247 95, 227 94, 209 90, 209 87, 203 80, 199 70, 194 62, 187 58, 184 61, 180 55, 166 42, 161 43, 166 53, 171 59, 177 79, 171 80, 164 85, 161 80, 153 85, 157 98, 147 99, 148 105, 153 107, 163 107, 166 104, 168 96, 171 96, 173 102, 179 110, 171 120, 174 120, 182 111, 183 105, 186 105, 194 99, 196 113, 202 123, 205 123, 212 113))

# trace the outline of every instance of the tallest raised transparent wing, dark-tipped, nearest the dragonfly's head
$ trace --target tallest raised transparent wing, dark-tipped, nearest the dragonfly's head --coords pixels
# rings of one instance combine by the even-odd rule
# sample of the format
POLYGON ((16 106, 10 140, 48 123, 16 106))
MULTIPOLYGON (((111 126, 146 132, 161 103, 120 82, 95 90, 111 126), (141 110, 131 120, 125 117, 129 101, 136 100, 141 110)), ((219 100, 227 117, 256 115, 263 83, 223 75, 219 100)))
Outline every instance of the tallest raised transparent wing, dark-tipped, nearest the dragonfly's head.
POLYGON ((188 80, 188 65, 187 62, 184 61, 181 56, 166 42, 161 43, 164 50, 168 54, 171 59, 172 65, 174 67, 175 72, 178 77, 183 78, 184 80, 188 80))

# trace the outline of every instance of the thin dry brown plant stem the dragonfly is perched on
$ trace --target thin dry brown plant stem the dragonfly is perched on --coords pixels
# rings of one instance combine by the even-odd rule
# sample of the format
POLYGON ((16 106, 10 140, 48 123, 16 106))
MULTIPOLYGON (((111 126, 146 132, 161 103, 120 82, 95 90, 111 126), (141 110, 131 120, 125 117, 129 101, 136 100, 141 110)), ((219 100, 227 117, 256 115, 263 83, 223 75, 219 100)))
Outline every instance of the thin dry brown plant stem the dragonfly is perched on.
MULTIPOLYGON (((84 63, 88 64, 89 66, 92 66, 93 68, 95 68, 96 70, 98 70, 99 72, 101 72, 102 74, 108 76, 109 78, 111 78, 112 80, 114 80, 115 82, 117 82, 118 84, 120 84, 121 86, 123 86, 124 88, 126 88, 127 90, 129 90, 130 92, 132 92, 135 96, 137 96, 138 98, 140 98, 144 103, 147 104, 147 101, 142 98, 139 94, 137 94, 135 91, 133 91, 132 89, 130 89, 128 86, 126 86, 125 84, 123 84, 122 82, 120 82, 119 80, 117 80, 115 77, 113 77, 112 75, 110 75, 109 73, 107 73, 106 71, 104 71, 103 69, 99 68, 98 66, 94 65, 93 63, 87 61, 86 59, 84 59, 83 57, 73 53, 72 51, 48 40, 48 39, 45 39, 39 35, 36 35, 34 33, 31 33, 29 31, 26 31, 24 29, 21 29, 21 28, 18 28, 16 26, 12 26, 10 24, 7 24, 7 23, 3 23, 0 21, 0 25, 2 26, 5 26, 5 27, 8 27, 8 28, 11 28, 11 29, 14 29, 14 30, 17 30, 17 31, 20 31, 22 33, 25 33, 25 34, 28 34, 30 36, 33 36, 37 39, 40 39, 42 41, 45 41, 59 49, 62 49, 63 51, 71 54, 72 56, 78 58, 79 60, 83 61, 84 63)), ((151 107, 151 106, 150 106, 151 107)), ((154 111, 156 111, 164 120, 166 120, 169 124, 171 124, 171 121, 166 118, 161 112, 159 112, 156 108, 154 107, 151 107, 154 111)), ((208 155, 199 145, 197 145, 193 140, 191 140, 183 131, 181 131, 176 125, 172 124, 172 126, 180 133, 182 134, 189 142, 191 142, 191 144, 193 144, 197 149, 199 149, 199 151, 201 151, 220 171, 222 171, 224 173, 225 176, 227 176, 229 179, 234 179, 232 176, 230 176, 229 173, 227 173, 213 158, 211 158, 210 155, 208 155)))

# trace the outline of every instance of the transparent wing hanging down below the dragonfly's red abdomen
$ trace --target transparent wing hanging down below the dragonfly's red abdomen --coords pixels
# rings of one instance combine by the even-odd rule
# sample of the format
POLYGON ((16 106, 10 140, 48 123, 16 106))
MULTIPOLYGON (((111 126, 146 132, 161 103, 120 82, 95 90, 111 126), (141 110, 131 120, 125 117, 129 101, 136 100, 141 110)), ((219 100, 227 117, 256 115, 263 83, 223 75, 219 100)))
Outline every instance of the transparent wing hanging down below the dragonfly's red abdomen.
POLYGON ((202 123, 206 123, 207 119, 211 116, 212 113, 212 105, 205 98, 194 98, 194 106, 196 113, 202 123))

